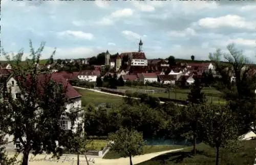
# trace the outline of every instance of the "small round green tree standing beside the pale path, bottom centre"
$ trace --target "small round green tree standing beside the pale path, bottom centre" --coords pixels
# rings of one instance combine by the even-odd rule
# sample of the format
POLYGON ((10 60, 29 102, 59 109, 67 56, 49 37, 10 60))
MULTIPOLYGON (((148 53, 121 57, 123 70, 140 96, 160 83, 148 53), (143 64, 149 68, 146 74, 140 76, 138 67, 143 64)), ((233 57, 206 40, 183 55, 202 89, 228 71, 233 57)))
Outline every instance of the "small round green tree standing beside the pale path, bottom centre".
POLYGON ((144 140, 142 133, 127 128, 120 128, 116 133, 110 133, 110 148, 123 157, 130 157, 130 165, 133 165, 132 156, 143 153, 144 140))

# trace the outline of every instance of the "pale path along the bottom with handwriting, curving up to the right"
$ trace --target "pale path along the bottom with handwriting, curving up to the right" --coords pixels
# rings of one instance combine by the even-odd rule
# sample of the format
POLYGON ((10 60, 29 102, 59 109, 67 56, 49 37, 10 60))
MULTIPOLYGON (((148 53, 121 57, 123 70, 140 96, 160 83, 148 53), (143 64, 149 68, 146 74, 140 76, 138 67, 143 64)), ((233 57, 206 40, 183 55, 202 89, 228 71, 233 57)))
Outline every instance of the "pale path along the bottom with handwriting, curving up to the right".
MULTIPOLYGON (((183 150, 182 149, 176 149, 176 150, 168 150, 168 151, 162 151, 162 152, 156 152, 156 153, 151 153, 151 154, 145 154, 145 155, 139 155, 139 156, 135 156, 132 158, 133 164, 137 164, 149 159, 152 159, 156 156, 165 154, 165 153, 169 153, 169 152, 175 152, 175 151, 179 151, 179 150, 183 150)), ((10 156, 12 156, 14 153, 9 153, 10 156)), ((18 159, 20 160, 22 158, 22 155, 18 156, 18 159)), ((60 159, 57 160, 51 160, 49 159, 50 155, 46 155, 46 154, 41 154, 41 155, 36 155, 35 157, 31 154, 29 155, 29 165, 76 165, 77 164, 77 157, 74 155, 71 156, 67 156, 67 155, 63 155, 60 157, 60 159)), ((88 159, 91 160, 91 162, 89 164, 95 164, 95 165, 129 165, 130 164, 130 160, 129 158, 119 158, 119 159, 102 159, 102 158, 98 158, 98 157, 90 157, 88 156, 88 159), (94 161, 94 163, 93 163, 94 161)), ((83 155, 80 155, 80 164, 86 164, 85 158, 83 155)))

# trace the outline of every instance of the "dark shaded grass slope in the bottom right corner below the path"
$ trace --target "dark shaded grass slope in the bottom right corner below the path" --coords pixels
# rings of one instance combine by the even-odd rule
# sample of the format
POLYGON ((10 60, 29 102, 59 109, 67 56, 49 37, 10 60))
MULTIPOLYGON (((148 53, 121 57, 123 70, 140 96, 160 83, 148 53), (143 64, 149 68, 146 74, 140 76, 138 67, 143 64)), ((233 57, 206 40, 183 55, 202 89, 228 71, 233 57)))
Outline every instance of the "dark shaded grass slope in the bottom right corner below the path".
MULTIPOLYGON (((221 165, 250 165, 253 164, 255 158, 256 140, 245 140, 241 142, 240 149, 236 153, 230 151, 220 151, 221 165)), ((139 165, 214 165, 215 149, 210 148, 203 143, 197 146, 198 154, 192 155, 191 148, 177 151, 173 153, 163 154, 150 160, 139 163, 139 165)))

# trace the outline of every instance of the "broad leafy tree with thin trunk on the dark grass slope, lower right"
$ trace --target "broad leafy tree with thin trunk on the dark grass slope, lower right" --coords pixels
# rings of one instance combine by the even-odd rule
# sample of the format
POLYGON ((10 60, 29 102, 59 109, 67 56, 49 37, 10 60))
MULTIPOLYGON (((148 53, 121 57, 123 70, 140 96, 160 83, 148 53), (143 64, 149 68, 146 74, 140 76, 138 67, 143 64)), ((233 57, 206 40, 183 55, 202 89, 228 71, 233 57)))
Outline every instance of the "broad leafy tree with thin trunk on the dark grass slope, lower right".
POLYGON ((218 165, 220 148, 236 149, 239 139, 238 126, 228 105, 206 104, 203 107, 203 140, 216 149, 215 164, 218 165))

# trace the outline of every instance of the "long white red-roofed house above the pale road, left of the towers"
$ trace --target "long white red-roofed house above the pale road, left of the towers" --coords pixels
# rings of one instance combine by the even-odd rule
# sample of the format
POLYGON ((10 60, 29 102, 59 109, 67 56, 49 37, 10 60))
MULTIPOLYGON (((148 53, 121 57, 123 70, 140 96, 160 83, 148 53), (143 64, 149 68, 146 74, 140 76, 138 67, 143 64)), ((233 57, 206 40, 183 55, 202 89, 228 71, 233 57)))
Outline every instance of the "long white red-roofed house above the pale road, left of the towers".
POLYGON ((89 82, 95 82, 97 79, 97 76, 100 75, 100 71, 99 70, 84 70, 84 71, 80 71, 77 75, 79 80, 82 81, 89 81, 89 82))

